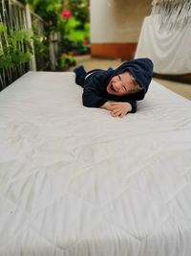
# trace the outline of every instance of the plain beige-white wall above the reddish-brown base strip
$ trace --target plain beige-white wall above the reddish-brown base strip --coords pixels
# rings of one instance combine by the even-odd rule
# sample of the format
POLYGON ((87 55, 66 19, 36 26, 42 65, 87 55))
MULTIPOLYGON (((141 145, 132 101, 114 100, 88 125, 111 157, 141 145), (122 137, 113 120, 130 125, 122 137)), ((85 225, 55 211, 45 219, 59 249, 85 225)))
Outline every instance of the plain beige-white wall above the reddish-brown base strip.
POLYGON ((152 0, 91 0, 91 41, 138 42, 145 15, 152 0))

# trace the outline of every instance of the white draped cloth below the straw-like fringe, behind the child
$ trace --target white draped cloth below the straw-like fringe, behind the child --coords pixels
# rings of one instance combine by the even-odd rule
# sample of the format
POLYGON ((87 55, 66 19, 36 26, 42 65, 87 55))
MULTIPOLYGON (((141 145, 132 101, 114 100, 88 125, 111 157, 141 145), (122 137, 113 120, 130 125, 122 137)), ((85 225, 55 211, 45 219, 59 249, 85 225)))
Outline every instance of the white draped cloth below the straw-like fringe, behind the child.
POLYGON ((151 58, 159 74, 191 73, 191 29, 161 30, 159 20, 152 15, 144 18, 136 58, 151 58))

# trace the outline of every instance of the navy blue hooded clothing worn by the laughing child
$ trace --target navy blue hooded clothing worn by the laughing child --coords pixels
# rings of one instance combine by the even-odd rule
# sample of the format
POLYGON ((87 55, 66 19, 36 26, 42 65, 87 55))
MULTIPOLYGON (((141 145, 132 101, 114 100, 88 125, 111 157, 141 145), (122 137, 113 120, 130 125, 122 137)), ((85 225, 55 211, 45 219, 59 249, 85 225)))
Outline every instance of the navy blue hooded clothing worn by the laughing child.
POLYGON ((86 73, 83 66, 79 66, 74 69, 74 73, 76 75, 75 82, 84 88, 82 95, 83 105, 100 107, 108 101, 127 102, 132 105, 131 112, 134 113, 137 110, 137 101, 144 98, 152 80, 153 62, 149 58, 135 58, 122 63, 117 69, 95 69, 86 73), (138 93, 123 96, 109 94, 106 90, 109 81, 126 71, 131 73, 142 90, 138 91, 138 93))

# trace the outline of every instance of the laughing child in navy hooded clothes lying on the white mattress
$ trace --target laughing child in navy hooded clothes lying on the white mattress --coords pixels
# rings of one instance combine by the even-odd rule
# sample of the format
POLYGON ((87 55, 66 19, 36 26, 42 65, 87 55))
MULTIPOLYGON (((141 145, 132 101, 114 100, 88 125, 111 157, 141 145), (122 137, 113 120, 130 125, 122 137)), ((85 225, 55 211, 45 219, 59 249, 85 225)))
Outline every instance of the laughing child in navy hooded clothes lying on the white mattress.
POLYGON ((117 69, 74 68, 75 82, 83 87, 83 105, 101 107, 112 116, 124 117, 137 111, 137 101, 144 98, 153 75, 149 58, 135 58, 122 63, 117 69))

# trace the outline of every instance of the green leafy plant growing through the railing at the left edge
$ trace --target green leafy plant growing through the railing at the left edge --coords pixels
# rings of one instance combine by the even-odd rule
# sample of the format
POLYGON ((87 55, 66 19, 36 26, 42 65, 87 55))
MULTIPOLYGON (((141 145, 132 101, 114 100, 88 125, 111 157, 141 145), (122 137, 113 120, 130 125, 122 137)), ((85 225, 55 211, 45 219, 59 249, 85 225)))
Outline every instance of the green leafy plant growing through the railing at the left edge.
POLYGON ((0 23, 0 36, 3 42, 3 49, 0 51, 0 68, 14 68, 31 59, 32 32, 20 30, 8 35, 7 26, 0 23))

